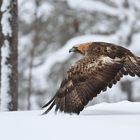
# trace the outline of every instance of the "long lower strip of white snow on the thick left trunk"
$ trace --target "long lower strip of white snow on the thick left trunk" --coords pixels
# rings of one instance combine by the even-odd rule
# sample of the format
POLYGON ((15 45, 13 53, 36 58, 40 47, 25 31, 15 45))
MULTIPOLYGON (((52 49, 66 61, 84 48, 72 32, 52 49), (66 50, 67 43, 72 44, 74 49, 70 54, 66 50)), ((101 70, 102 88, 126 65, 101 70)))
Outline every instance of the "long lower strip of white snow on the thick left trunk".
POLYGON ((7 65, 7 59, 10 55, 9 42, 4 41, 4 46, 1 48, 2 51, 2 61, 1 61, 1 110, 8 110, 8 103, 10 102, 9 96, 9 76, 11 74, 11 66, 7 65))

